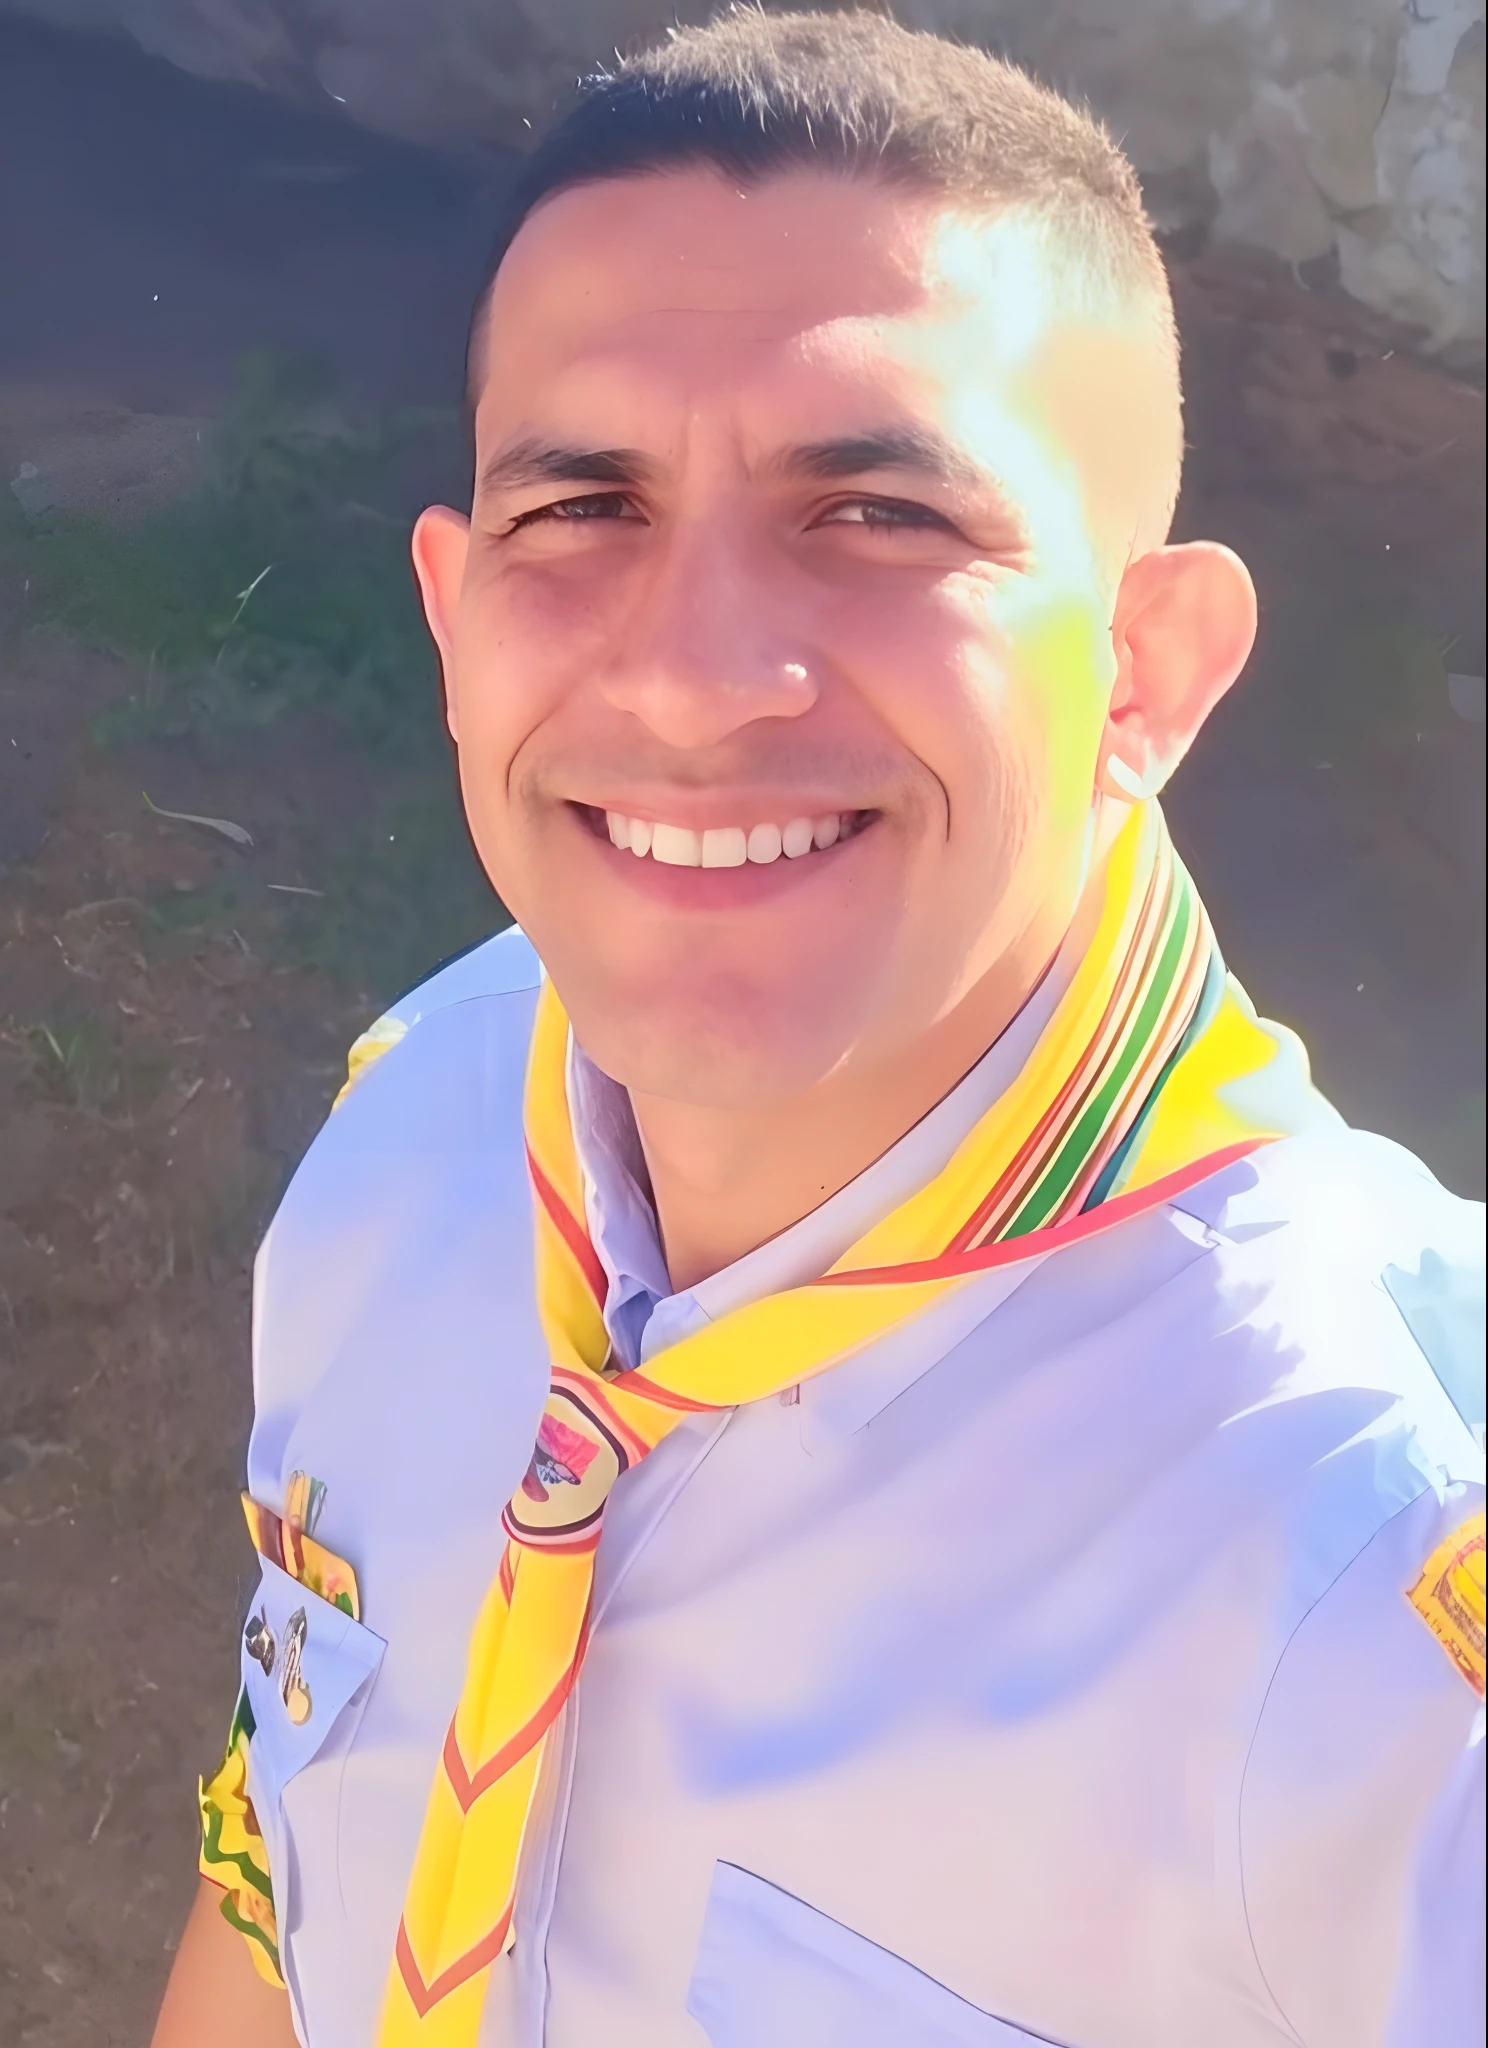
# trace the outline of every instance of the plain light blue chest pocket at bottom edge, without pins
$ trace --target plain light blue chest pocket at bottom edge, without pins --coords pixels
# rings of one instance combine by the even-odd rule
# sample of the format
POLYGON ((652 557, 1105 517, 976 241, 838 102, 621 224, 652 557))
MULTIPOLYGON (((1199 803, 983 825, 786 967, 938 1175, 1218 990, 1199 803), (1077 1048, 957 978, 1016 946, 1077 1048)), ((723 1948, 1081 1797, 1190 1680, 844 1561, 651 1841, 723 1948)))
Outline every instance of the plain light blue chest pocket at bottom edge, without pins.
POLYGON ((716 1864, 688 2011, 712 2048, 1044 2048, 776 1884, 716 1864))

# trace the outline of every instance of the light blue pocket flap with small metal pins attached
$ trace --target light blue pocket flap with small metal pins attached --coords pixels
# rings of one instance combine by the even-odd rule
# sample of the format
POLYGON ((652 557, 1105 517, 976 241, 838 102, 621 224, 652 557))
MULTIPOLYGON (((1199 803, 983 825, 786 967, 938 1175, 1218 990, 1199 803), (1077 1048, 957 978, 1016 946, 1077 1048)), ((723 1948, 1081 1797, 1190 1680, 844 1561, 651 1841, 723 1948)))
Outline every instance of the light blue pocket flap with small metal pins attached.
POLYGON ((244 1624, 244 1688, 254 1712, 254 1776, 282 1788, 377 1673, 387 1645, 272 1559, 260 1556, 260 1565, 264 1575, 244 1624))

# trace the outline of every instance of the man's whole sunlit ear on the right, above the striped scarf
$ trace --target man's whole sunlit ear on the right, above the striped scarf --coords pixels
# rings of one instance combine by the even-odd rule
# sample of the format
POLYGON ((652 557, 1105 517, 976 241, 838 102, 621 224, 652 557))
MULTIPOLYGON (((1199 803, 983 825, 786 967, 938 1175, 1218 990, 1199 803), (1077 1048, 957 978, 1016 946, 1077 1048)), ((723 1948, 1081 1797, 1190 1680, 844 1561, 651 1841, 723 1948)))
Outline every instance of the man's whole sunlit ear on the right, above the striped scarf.
POLYGON ((1251 571, 1218 541, 1158 547, 1128 567, 1111 618, 1105 795, 1140 803, 1163 788, 1244 668, 1255 627, 1251 571))

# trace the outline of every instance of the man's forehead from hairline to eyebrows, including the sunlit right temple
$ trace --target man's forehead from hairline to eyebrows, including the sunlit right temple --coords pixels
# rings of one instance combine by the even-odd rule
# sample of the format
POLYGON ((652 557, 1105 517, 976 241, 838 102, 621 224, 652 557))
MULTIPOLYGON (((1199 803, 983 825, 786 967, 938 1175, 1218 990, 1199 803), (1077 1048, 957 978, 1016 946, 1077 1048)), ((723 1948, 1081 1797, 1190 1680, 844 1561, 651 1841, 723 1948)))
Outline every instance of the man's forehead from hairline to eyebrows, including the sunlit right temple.
POLYGON ((559 193, 516 236, 475 367, 477 461, 522 434, 745 467, 931 426, 1107 573, 1177 494, 1177 367, 1142 299, 1091 293, 1015 209, 868 178, 714 170, 559 193))

